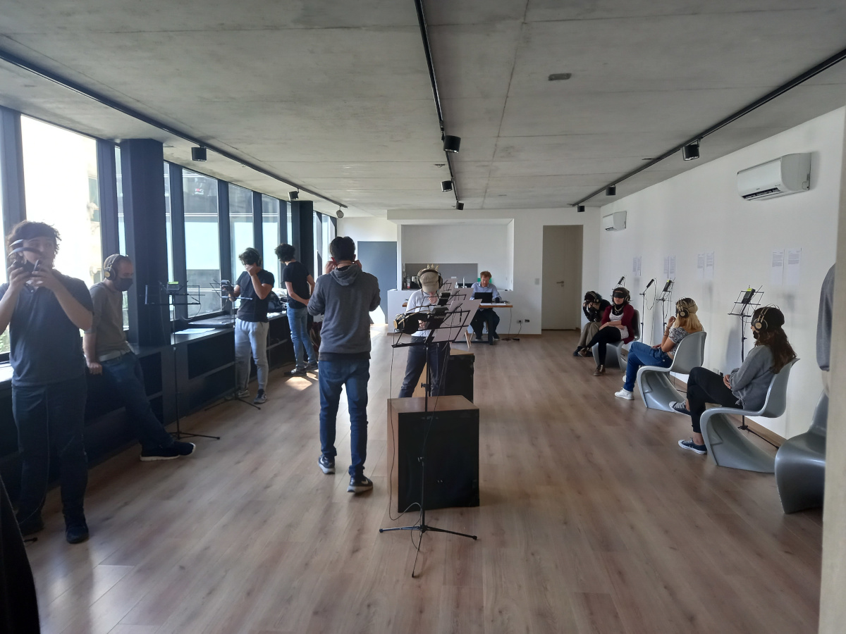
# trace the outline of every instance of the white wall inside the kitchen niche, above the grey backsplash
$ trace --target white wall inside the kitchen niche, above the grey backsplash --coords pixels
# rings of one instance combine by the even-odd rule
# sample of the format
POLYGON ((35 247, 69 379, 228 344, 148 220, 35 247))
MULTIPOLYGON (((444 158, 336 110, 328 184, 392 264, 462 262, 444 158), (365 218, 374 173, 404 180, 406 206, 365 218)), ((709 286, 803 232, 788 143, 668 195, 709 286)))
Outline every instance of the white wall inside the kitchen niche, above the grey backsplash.
MULTIPOLYGON (((514 283, 507 224, 404 225, 402 241, 403 264, 475 263, 479 265, 477 273, 491 271, 497 288, 511 288, 514 283)), ((405 273, 416 275, 417 271, 405 273)), ((467 281, 475 281, 475 277, 467 281)))

